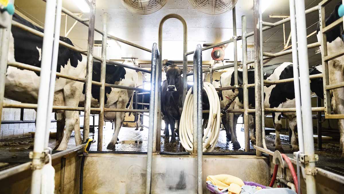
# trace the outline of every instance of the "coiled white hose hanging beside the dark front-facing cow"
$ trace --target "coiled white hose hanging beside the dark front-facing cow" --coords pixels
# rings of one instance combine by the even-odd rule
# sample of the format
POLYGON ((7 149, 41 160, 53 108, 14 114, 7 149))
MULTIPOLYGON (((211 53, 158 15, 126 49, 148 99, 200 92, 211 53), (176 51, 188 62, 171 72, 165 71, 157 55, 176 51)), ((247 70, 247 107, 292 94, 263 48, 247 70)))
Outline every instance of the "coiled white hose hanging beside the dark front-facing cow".
MULTIPOLYGON (((203 136, 203 152, 212 152, 217 143, 220 132, 221 116, 220 116, 220 100, 214 86, 208 82, 203 82, 209 99, 209 120, 203 136)), ((192 152, 193 148, 193 95, 192 88, 186 94, 183 111, 179 124, 180 142, 186 151, 192 152)))

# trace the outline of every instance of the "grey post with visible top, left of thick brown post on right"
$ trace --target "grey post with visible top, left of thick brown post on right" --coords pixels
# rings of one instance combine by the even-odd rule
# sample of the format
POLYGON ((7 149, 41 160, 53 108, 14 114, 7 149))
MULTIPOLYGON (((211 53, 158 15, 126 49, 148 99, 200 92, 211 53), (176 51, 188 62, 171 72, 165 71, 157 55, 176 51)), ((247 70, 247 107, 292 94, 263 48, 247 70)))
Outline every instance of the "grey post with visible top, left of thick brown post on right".
POLYGON ((244 93, 244 132, 245 132, 245 152, 250 151, 250 129, 248 118, 248 75, 247 75, 247 40, 246 40, 246 16, 241 16, 242 24, 242 45, 243 45, 243 93, 244 93))

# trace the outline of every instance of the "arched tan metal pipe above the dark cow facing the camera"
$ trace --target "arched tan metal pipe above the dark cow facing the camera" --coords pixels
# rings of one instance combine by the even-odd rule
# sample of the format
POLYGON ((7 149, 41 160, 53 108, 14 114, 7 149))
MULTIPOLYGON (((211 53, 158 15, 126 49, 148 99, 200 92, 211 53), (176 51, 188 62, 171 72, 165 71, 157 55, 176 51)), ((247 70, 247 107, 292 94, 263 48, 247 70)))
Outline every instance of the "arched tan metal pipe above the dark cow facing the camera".
MULTIPOLYGON (((161 19, 160 24, 159 24, 159 35, 158 35, 159 53, 160 53, 160 56, 162 57, 162 26, 163 26, 164 22, 170 18, 178 19, 183 24, 183 104, 184 104, 184 100, 185 100, 185 96, 186 96, 186 92, 187 92, 187 75, 186 75, 186 69, 187 69, 187 55, 186 55, 186 52, 187 52, 187 50, 186 50, 187 49, 187 26, 186 26, 186 22, 185 22, 184 18, 182 18, 180 15, 172 13, 172 14, 168 14, 167 16, 165 16, 161 19)), ((161 70, 159 71, 159 74, 160 74, 160 72, 161 72, 161 70)))

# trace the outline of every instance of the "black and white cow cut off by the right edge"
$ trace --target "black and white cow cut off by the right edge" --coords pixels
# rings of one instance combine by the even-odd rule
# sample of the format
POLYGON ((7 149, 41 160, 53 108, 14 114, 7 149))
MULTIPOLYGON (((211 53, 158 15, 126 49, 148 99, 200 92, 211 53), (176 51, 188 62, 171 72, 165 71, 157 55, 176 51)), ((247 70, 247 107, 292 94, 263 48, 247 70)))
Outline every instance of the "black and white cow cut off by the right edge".
MULTIPOLYGON (((341 3, 338 3, 329 18, 326 19, 326 26, 336 21, 338 16, 338 8, 341 3)), ((317 37, 320 42, 320 28, 318 24, 317 37)), ((344 30, 343 24, 336 26, 326 32, 327 38, 327 55, 334 54, 344 49, 344 30)), ((344 81, 344 56, 335 58, 329 61, 329 81, 330 85, 342 83, 344 81)), ((344 88, 336 88, 330 90, 331 105, 335 114, 344 114, 344 88)), ((340 132, 340 149, 342 150, 342 157, 344 157, 344 119, 338 119, 338 127, 340 132)))

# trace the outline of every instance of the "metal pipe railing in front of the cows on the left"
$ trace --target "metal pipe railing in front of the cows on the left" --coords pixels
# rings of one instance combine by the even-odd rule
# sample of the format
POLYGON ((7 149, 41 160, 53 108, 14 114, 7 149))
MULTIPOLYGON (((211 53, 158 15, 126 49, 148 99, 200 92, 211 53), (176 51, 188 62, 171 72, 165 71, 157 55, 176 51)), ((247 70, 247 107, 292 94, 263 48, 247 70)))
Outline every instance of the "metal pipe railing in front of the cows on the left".
MULTIPOLYGON (((45 1, 45 0, 44 0, 45 1)), ((85 118, 84 118, 84 139, 88 138, 88 134, 89 134, 89 116, 90 116, 90 111, 98 111, 99 112, 99 129, 98 129, 98 146, 97 149, 98 151, 101 151, 101 147, 102 147, 102 141, 103 141, 103 136, 102 136, 102 129, 103 129, 103 124, 104 124, 104 112, 139 112, 139 113, 144 113, 144 112, 149 112, 149 110, 137 110, 137 109, 119 109, 119 108, 105 108, 104 107, 104 88, 105 87, 112 87, 112 88, 120 88, 120 89, 128 89, 128 90, 136 90, 136 91, 144 91, 144 89, 142 88, 135 88, 135 87, 126 87, 126 86, 120 86, 120 85, 114 85, 114 84, 108 84, 105 83, 105 72, 106 72, 106 64, 111 64, 111 65, 116 65, 116 66, 120 66, 120 67, 125 67, 125 68, 129 68, 129 69, 133 69, 133 70, 137 70, 137 71, 142 71, 142 72, 146 72, 146 73, 151 73, 151 71, 146 70, 146 69, 142 69, 142 68, 138 68, 138 67, 134 67, 134 66, 128 66, 128 65, 124 65, 124 64, 120 64, 114 61, 110 61, 110 60, 106 60, 106 40, 107 38, 110 39, 114 39, 120 42, 123 42, 125 44, 128 44, 130 46, 148 51, 148 52, 152 52, 150 49, 141 47, 139 45, 136 45, 134 43, 119 39, 117 37, 111 36, 107 34, 107 13, 104 14, 103 16, 103 31, 100 31, 98 29, 96 29, 94 27, 94 20, 95 20, 95 0, 90 1, 90 14, 89 14, 89 19, 82 19, 78 16, 76 16, 75 14, 73 14, 72 12, 68 11, 65 8, 62 8, 62 0, 47 0, 47 5, 50 4, 49 9, 54 9, 55 10, 55 6, 52 6, 52 4, 56 3, 59 5, 60 3, 60 7, 56 6, 56 16, 60 15, 61 10, 63 12, 65 12, 68 16, 71 16, 72 18, 76 19, 77 21, 83 23, 84 25, 89 27, 89 33, 88 33, 88 49, 87 51, 79 49, 77 47, 74 47, 72 45, 69 45, 66 42, 63 42, 61 40, 59 40, 58 38, 55 38, 55 42, 54 42, 54 48, 58 48, 58 45, 61 45, 63 47, 66 47, 68 49, 71 49, 73 51, 77 51, 82 55, 86 55, 87 56, 87 69, 86 69, 86 78, 85 77, 75 77, 75 76, 69 76, 69 75, 65 75, 65 74, 61 74, 59 72, 56 72, 56 67, 53 68, 51 70, 52 75, 56 74, 56 77, 61 77, 61 78, 65 78, 65 79, 70 79, 70 80, 74 80, 74 81, 79 81, 79 82, 83 82, 86 85, 86 93, 85 93, 85 106, 84 107, 73 107, 73 106, 56 106, 56 105, 50 105, 51 109, 53 110, 79 110, 79 111, 84 111, 85 113, 85 118), (60 12, 59 12, 60 11, 60 12), (86 22, 88 21, 88 22, 86 22), (101 35, 103 35, 103 47, 102 47, 102 56, 101 57, 97 57, 93 55, 93 38, 94 38, 94 31, 99 32, 101 35), (97 81, 93 81, 92 80, 92 67, 93 67, 93 59, 95 60, 99 60, 101 62, 101 78, 100 78, 100 82, 97 81), (100 103, 99 103, 99 107, 90 107, 90 100, 91 100, 91 86, 93 85, 97 85, 100 86, 100 103)), ((55 15, 55 11, 52 10, 46 10, 46 13, 53 13, 55 15)), ((58 17, 56 17, 56 21, 58 21, 58 17)), ((60 20, 59 20, 60 21, 60 20)), ((16 21, 11 21, 12 26, 18 27, 22 30, 28 31, 30 33, 32 33, 33 35, 39 36, 44 38, 45 37, 45 32, 39 32, 37 30, 34 30, 30 27, 27 27, 25 25, 22 25, 19 22, 16 21)), ((60 22, 56 22, 56 25, 60 25, 60 22)), ((0 65, 0 73, 1 75, 4 75, 6 70, 7 70, 7 66, 12 66, 12 67, 17 67, 20 69, 26 69, 26 70, 31 70, 31 71, 35 71, 35 72, 43 72, 42 68, 39 67, 34 67, 28 64, 23 64, 20 62, 8 62, 7 61, 7 54, 8 54, 8 45, 9 45, 9 35, 10 35, 10 31, 11 31, 11 25, 9 25, 10 27, 8 27, 7 29, 1 29, 2 31, 6 32, 6 33, 2 33, 2 37, 1 37, 1 42, 2 42, 2 47, 1 47, 1 65, 0 65)), ((52 28, 53 29, 53 28, 52 28)), ((57 29, 57 28, 56 28, 57 29)), ((59 37, 59 32, 60 30, 56 30, 55 29, 55 36, 59 37)), ((58 28, 60 29, 60 28, 58 28)), ((54 34, 54 32, 53 32, 54 34)), ((43 49, 48 49, 49 46, 43 47, 43 49)), ((52 48, 52 47, 50 47, 52 48)), ((58 49, 57 49, 58 50, 58 49)), ((44 51, 46 53, 49 53, 48 51, 44 51)), ((56 55, 57 57, 57 55, 56 55)), ((47 74, 47 75, 50 75, 47 74)), ((42 74, 41 74, 42 76, 42 74)), ((5 76, 0 76, 1 79, 4 79, 5 76)), ((51 76, 51 82, 50 84, 52 84, 53 81, 53 85, 50 85, 50 87, 54 88, 54 83, 55 83, 55 78, 53 76, 51 76)), ((42 77, 41 77, 42 78, 42 77)), ((30 103, 21 103, 21 104, 14 104, 14 103, 8 103, 8 102, 4 102, 3 101, 3 97, 4 97, 4 86, 5 86, 5 81, 3 80, 0 83, 0 113, 2 111, 2 108, 31 108, 31 109, 39 109, 40 106, 37 104, 30 104, 30 103)), ((42 90, 43 91, 43 90, 42 90)), ((52 93, 54 94, 54 93, 52 93)), ((51 102, 52 103, 52 102, 51 102)), ((37 111, 38 114, 38 111, 37 111)), ((0 120, 1 121, 1 120, 0 120)), ((38 126, 37 126, 38 128, 38 126)), ((42 127, 41 127, 42 128, 42 127)), ((38 129, 37 129, 38 132, 38 129)), ((45 132, 44 132, 45 133, 45 132)), ((42 133, 43 134, 43 133, 42 133)), ((41 134, 41 135, 42 135, 41 134)), ((43 134, 44 136, 46 136, 46 134, 43 134)), ((38 134, 36 135, 38 136, 38 134)), ((44 141, 44 138, 43 138, 44 141)), ((36 143, 36 141, 35 141, 36 143)), ((47 146, 47 143, 46 143, 47 146)), ((34 152, 37 152, 36 149, 34 149, 34 152)), ((38 165, 34 164, 34 165, 38 165)))

